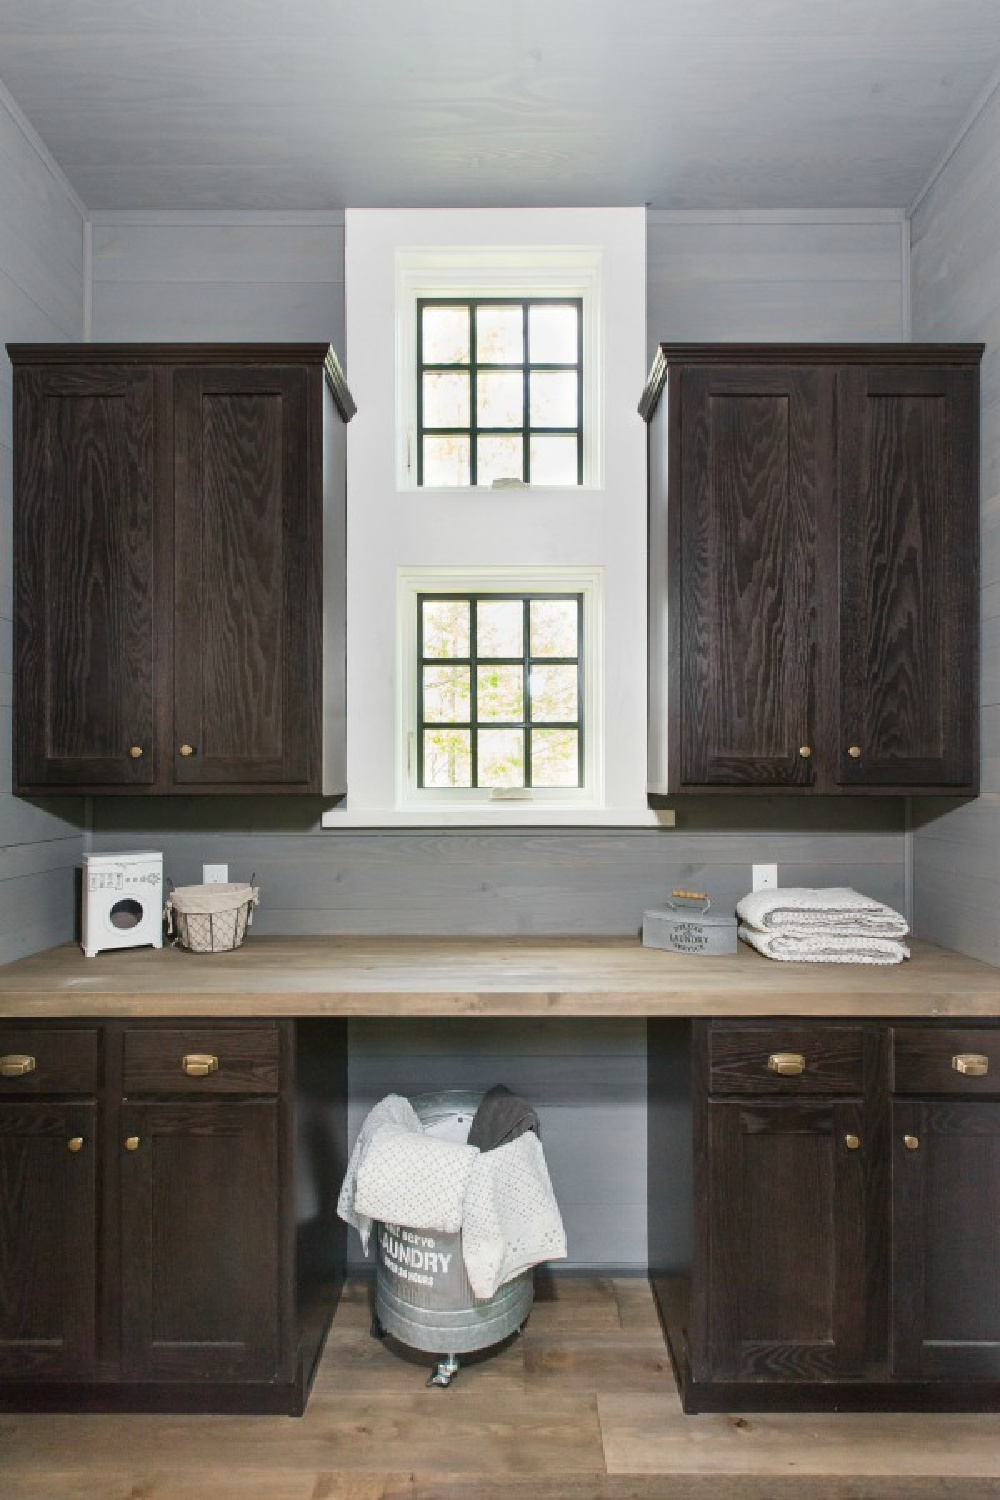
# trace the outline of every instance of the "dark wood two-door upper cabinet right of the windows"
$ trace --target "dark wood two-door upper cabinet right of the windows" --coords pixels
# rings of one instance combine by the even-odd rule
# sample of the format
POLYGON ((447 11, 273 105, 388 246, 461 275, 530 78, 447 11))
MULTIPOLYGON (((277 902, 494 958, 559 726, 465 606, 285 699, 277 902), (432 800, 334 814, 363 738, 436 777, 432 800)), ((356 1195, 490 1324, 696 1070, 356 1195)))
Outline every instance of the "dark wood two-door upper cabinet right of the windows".
POLYGON ((649 782, 978 789, 981 345, 661 345, 649 782))

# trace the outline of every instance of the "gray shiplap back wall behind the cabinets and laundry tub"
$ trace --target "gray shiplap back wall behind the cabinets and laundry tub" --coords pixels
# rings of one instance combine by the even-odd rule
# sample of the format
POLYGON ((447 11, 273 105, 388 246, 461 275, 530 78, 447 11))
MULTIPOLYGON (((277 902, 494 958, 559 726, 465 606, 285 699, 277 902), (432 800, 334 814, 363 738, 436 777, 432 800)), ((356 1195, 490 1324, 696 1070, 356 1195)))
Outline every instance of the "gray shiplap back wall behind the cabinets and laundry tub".
MULTIPOLYGON (((96 339, 330 338, 343 327, 342 230, 268 214, 96 214, 96 339)), ((658 339, 900 339, 898 214, 649 216, 658 339)), ((346 351, 349 378, 351 358, 346 351)), ((639 396, 639 392, 636 392, 639 396)), ((754 860, 786 884, 853 884, 901 906, 901 808, 877 801, 687 802, 675 832, 321 832, 319 802, 94 802, 94 848, 153 842, 177 882, 202 861, 256 873, 256 932, 628 933, 675 884, 723 909, 754 860)), ((570 1258, 646 1258, 642 1023, 355 1022, 354 1128, 379 1096, 522 1088, 541 1114, 570 1258)), ((688 1186, 678 1174, 678 1236, 688 1186)), ((357 1240, 352 1239, 357 1254, 357 1240)))

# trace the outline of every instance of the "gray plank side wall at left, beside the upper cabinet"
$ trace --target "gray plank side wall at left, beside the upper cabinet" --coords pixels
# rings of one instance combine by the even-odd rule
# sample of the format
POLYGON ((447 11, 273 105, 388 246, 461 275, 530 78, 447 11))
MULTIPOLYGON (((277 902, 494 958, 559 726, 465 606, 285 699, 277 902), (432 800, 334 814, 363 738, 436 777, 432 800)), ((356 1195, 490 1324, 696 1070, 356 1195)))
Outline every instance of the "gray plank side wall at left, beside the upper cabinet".
POLYGON ((79 800, 10 795, 12 384, 9 342, 84 336, 84 216, 0 90, 0 963, 75 930, 79 800))

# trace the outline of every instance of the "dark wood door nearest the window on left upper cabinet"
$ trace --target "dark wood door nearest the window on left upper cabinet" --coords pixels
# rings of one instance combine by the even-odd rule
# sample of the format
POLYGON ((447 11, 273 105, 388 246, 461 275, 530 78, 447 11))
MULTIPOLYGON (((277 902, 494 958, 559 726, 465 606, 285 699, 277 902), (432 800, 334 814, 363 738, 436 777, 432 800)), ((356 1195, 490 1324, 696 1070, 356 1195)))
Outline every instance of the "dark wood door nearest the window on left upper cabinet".
POLYGON ((303 789, 318 776, 321 435, 307 394, 301 369, 174 376, 175 786, 303 789))

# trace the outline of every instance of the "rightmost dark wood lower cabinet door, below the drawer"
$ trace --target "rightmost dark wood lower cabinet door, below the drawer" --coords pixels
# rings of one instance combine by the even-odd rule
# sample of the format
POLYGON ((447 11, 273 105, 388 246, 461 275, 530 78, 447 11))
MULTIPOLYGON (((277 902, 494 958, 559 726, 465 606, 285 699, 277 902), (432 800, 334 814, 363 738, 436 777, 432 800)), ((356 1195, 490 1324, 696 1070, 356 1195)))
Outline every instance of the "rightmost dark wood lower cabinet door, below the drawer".
POLYGON ((1000 1102, 892 1106, 892 1374, 1000 1380, 1000 1102))

